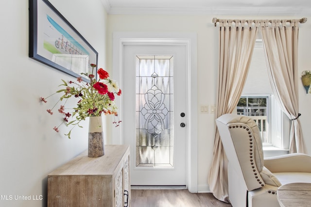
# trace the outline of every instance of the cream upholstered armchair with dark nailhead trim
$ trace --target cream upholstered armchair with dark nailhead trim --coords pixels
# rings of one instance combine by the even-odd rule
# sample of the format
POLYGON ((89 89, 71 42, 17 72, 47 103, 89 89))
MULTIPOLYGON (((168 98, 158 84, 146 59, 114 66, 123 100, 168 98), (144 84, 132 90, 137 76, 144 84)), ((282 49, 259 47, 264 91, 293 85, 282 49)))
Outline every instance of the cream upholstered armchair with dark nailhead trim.
POLYGON ((259 128, 250 117, 225 114, 216 124, 228 159, 233 207, 279 207, 278 187, 311 183, 311 156, 295 153, 263 159, 259 128))

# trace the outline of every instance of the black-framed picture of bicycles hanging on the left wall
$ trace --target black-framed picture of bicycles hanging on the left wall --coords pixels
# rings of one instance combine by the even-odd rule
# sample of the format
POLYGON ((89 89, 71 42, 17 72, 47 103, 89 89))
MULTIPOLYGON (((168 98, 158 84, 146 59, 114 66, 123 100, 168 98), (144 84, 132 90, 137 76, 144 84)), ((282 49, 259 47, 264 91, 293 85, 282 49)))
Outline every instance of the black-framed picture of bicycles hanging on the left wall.
POLYGON ((29 57, 73 77, 97 75, 98 52, 48 1, 29 0, 29 57))

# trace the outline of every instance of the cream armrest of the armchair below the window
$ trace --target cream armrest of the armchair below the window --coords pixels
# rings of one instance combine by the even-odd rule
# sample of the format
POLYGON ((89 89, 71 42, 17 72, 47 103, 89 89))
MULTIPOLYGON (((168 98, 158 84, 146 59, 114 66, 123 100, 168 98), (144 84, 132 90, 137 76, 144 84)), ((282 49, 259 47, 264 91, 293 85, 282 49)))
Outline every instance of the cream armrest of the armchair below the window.
POLYGON ((264 159, 264 166, 272 173, 304 172, 311 173, 311 156, 293 153, 264 159))

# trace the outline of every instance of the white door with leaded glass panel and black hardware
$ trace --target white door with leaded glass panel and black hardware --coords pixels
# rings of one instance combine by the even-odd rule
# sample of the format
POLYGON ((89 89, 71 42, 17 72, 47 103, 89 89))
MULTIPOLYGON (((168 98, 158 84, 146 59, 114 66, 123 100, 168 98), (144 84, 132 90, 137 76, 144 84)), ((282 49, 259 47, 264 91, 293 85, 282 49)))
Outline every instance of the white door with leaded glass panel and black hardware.
POLYGON ((187 47, 123 48, 123 143, 130 144, 131 185, 187 184, 187 47))

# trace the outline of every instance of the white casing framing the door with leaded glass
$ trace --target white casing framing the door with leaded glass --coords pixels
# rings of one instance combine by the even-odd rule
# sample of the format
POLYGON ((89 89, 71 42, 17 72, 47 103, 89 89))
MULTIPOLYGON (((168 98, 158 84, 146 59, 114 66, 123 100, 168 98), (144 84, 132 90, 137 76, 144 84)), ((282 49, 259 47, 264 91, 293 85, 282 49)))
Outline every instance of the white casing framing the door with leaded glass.
MULTIPOLYGON (((113 33, 113 79, 123 82, 123 49, 125 45, 185 45, 187 54, 187 112, 190 114, 187 124, 187 188, 190 192, 198 191, 198 112, 197 112, 197 40, 196 33, 150 33, 150 32, 114 32, 113 33)), ((118 98, 119 114, 122 120, 122 96, 118 98)), ((114 127, 113 144, 123 143, 123 127, 114 127)))

